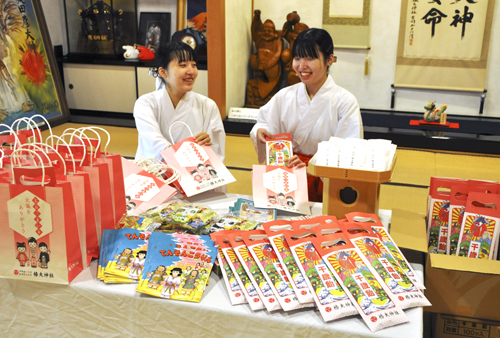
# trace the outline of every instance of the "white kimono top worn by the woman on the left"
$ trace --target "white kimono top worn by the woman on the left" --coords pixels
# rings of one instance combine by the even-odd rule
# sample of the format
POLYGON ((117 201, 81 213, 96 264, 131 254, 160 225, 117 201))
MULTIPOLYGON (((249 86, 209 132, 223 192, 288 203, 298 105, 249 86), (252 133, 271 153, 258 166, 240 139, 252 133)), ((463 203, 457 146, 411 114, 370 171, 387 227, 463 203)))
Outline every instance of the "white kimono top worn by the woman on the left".
POLYGON ((187 92, 174 108, 167 90, 162 86, 137 99, 134 119, 139 132, 136 158, 155 157, 163 160, 160 152, 191 136, 185 125, 177 123, 172 127, 173 140, 170 138, 170 125, 175 121, 183 121, 191 128, 193 136, 202 131, 208 133, 212 150, 224 161, 226 133, 217 105, 206 96, 187 92))

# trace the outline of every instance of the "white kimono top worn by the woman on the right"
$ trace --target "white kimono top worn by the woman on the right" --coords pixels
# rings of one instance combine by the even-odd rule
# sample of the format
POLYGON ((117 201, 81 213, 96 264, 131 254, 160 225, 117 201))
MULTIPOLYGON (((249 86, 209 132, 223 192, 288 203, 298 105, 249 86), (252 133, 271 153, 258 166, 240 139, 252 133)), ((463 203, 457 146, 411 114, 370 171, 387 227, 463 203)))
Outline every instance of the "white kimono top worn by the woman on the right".
POLYGON ((328 141, 331 136, 363 137, 363 122, 356 97, 336 85, 330 75, 312 100, 306 86, 297 83, 280 90, 260 108, 250 137, 259 162, 263 163, 266 147, 257 139, 260 128, 272 135, 291 133, 293 152, 309 156, 316 153, 318 143, 328 141))

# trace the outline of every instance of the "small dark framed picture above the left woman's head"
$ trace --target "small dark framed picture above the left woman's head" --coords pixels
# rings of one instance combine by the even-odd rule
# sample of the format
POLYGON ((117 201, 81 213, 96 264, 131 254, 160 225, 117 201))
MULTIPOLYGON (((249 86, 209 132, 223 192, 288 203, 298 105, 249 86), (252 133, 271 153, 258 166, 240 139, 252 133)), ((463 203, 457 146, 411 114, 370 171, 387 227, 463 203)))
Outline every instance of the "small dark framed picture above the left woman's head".
POLYGON ((170 41, 170 13, 141 12, 137 44, 158 49, 170 41))

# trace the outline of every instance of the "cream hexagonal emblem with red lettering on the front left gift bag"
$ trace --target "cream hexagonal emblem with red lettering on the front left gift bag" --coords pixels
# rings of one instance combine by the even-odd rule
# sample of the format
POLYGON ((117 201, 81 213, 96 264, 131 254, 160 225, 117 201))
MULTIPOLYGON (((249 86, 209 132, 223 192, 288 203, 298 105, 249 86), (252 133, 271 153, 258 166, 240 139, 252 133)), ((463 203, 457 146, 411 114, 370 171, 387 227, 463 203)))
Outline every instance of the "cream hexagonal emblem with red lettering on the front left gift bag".
POLYGON ((38 240, 52 232, 50 204, 29 191, 7 201, 9 227, 18 234, 38 240))

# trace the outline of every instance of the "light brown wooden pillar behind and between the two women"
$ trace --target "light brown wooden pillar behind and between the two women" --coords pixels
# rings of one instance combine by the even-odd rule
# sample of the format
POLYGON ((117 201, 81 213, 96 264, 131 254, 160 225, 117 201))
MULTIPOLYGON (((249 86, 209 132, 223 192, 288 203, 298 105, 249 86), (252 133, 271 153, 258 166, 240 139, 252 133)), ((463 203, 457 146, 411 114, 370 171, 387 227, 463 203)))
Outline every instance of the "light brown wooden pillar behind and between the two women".
POLYGON ((207 0, 208 97, 226 118, 226 1, 207 0))

